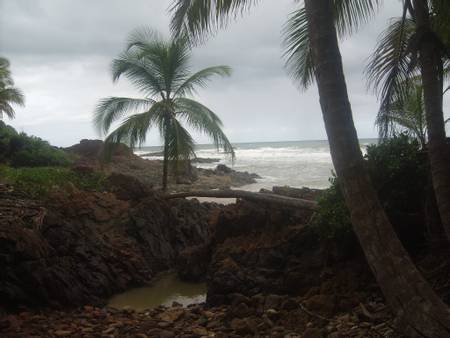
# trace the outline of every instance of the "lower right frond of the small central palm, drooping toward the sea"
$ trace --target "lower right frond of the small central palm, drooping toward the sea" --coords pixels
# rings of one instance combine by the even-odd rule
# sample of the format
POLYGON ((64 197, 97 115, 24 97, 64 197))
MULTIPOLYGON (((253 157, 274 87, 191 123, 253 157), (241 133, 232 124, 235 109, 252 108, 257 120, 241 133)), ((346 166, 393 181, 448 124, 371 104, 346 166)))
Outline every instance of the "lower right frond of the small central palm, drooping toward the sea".
POLYGON ((213 111, 201 103, 187 98, 178 98, 175 100, 175 104, 177 116, 183 118, 195 130, 210 137, 217 150, 222 149, 231 155, 231 159, 234 161, 234 148, 221 129, 222 121, 213 111))

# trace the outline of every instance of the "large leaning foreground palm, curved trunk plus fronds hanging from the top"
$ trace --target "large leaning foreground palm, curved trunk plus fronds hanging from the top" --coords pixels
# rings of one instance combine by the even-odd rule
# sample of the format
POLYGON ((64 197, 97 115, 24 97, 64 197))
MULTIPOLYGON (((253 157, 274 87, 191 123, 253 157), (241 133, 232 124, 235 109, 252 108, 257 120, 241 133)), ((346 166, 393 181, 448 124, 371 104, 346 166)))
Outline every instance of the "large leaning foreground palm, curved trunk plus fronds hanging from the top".
MULTIPOLYGON (((298 29, 299 33, 289 34, 300 37, 298 41, 308 47, 303 55, 310 55, 310 59, 298 53, 291 60, 294 70, 296 66, 304 69, 296 64, 300 62, 312 66, 312 72, 304 72, 309 76, 304 82, 309 84, 313 79, 317 82, 330 152, 353 229, 403 330, 410 337, 449 337, 449 309, 420 275, 398 240, 364 167, 353 123, 337 40, 338 23, 355 27, 355 23, 361 22, 356 18, 366 13, 361 10, 367 7, 361 6, 369 2, 375 8, 377 1, 370 0, 305 0, 304 9, 300 9, 304 24, 294 24, 292 29, 298 29), (338 5, 347 10, 336 13, 338 5), (338 21, 345 15, 346 20, 338 21)), ((230 18, 254 3, 251 0, 177 0, 172 7, 172 28, 198 42, 205 32, 226 25, 230 18)), ((301 72, 294 76, 298 74, 301 72)))

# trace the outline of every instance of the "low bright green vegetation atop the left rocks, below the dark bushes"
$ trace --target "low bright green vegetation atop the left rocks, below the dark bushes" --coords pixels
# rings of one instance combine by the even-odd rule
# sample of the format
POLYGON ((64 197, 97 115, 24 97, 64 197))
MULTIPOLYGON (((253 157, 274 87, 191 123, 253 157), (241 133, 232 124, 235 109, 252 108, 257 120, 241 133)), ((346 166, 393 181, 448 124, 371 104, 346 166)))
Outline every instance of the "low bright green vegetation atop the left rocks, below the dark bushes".
POLYGON ((45 197, 55 187, 73 185, 81 190, 103 191, 105 176, 99 172, 79 173, 65 167, 0 166, 2 180, 32 197, 45 197))

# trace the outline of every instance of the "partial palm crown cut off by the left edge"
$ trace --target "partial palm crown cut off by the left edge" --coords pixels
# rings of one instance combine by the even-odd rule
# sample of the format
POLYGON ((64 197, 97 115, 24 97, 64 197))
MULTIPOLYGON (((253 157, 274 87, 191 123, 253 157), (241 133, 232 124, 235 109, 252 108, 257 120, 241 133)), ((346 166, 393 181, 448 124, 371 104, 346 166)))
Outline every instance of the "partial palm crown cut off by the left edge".
POLYGON ((3 114, 10 119, 14 118, 15 112, 11 104, 23 106, 25 97, 20 89, 14 87, 9 61, 0 57, 0 119, 3 118, 3 114))

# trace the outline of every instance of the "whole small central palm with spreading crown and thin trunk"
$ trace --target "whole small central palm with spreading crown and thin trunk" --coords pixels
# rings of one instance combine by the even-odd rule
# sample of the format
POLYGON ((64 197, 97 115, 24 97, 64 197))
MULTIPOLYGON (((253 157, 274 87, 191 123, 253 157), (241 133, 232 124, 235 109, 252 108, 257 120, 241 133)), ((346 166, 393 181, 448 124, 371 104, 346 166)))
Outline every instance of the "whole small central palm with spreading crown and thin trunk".
POLYGON ((100 101, 94 123, 107 134, 111 125, 128 115, 105 139, 106 144, 125 142, 134 147, 145 142, 152 127, 164 142, 162 188, 167 189, 169 161, 176 165, 195 156, 194 140, 183 124, 209 136, 217 149, 234 158, 234 150, 222 131, 220 118, 208 107, 186 96, 205 87, 213 76, 229 76, 228 66, 190 71, 190 49, 183 37, 166 41, 156 32, 140 29, 131 34, 126 50, 112 63, 113 81, 122 75, 143 98, 108 97, 100 101))

